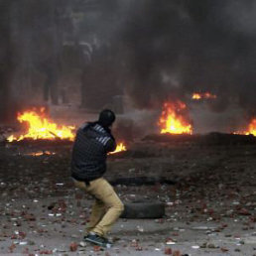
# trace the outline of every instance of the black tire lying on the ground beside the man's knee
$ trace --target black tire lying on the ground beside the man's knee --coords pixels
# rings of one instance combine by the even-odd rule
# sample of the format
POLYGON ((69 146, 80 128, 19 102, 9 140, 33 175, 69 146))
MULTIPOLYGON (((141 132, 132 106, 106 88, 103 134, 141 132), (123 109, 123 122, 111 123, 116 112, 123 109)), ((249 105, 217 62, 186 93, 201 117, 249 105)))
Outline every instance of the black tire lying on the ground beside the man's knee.
POLYGON ((162 202, 127 202, 121 218, 162 218, 165 204, 162 202))

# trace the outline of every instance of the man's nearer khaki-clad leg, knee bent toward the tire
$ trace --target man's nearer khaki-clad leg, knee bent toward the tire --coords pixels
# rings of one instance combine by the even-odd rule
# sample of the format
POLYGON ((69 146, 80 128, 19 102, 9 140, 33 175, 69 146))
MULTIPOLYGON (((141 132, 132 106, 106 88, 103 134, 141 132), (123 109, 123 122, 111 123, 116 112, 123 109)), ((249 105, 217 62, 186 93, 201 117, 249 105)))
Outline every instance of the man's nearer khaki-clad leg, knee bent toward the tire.
POLYGON ((101 200, 106 207, 106 213, 91 230, 100 236, 105 236, 122 213, 124 205, 112 186, 103 178, 91 182, 88 192, 101 200))

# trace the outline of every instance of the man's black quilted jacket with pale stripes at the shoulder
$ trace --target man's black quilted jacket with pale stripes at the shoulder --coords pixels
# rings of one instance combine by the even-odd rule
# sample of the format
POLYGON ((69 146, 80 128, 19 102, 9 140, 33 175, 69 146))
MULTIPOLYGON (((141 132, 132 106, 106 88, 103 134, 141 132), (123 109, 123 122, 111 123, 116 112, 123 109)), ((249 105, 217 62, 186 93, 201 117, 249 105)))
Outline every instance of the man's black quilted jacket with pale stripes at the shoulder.
POLYGON ((77 181, 89 182, 106 172, 107 153, 116 148, 109 129, 97 122, 81 126, 72 149, 71 176, 77 181))

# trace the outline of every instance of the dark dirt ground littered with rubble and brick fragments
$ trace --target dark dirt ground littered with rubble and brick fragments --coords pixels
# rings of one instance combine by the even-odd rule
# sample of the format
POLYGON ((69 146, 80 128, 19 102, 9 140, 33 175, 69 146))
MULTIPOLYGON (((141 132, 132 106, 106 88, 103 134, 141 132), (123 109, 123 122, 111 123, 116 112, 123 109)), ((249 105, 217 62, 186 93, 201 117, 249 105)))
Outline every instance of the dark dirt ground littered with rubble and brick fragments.
POLYGON ((1 255, 256 255, 256 145, 139 142, 110 156, 109 181, 176 183, 115 186, 124 202, 164 202, 166 215, 119 219, 110 249, 82 242, 92 198, 73 188, 70 148, 0 146, 1 255))

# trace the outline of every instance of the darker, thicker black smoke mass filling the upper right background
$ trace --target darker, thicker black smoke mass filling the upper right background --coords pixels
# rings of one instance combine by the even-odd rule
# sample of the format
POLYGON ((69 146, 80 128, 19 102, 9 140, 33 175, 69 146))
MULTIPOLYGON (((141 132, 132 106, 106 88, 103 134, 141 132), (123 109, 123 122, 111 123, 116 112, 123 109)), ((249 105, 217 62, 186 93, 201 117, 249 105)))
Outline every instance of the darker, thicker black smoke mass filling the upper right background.
POLYGON ((255 1, 133 1, 123 23, 128 91, 138 107, 210 91, 209 106, 256 106, 255 1))

